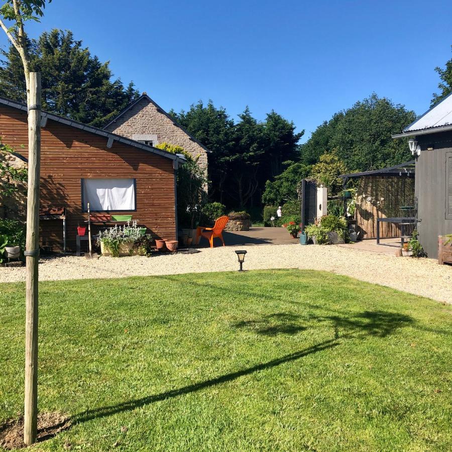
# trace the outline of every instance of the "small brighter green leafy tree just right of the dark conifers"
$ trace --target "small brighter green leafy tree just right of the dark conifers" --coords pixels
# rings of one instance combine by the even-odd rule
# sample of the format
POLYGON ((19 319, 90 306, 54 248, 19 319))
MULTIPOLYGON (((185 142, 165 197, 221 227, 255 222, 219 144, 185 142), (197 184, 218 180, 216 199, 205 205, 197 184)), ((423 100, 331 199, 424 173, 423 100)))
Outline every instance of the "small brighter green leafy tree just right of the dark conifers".
POLYGON ((290 166, 276 176, 274 181, 268 180, 265 183, 262 202, 281 205, 287 201, 296 201, 298 199, 297 186, 302 179, 309 176, 310 171, 309 165, 291 162, 290 166))

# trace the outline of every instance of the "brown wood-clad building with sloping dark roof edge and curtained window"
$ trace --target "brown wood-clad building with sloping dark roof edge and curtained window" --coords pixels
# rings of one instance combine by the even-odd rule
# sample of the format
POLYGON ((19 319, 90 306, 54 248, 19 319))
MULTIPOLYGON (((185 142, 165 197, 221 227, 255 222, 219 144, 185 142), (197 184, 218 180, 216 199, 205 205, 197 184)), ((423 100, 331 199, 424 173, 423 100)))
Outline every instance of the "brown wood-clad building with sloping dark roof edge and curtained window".
MULTIPOLYGON (((157 238, 177 235, 176 171, 185 161, 137 141, 57 115, 41 116, 42 246, 75 251, 87 203, 97 213, 132 214, 157 238)), ((0 97, 0 137, 27 161, 27 106, 0 97)), ((94 231, 95 232, 95 231, 94 231)))

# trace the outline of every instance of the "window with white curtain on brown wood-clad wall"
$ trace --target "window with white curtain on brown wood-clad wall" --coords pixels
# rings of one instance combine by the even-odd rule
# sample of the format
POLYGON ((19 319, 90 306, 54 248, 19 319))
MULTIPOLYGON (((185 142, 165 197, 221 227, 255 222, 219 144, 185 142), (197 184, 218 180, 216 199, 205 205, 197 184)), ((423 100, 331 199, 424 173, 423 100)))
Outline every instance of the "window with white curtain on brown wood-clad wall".
POLYGON ((136 179, 82 179, 82 207, 86 212, 135 210, 136 179))

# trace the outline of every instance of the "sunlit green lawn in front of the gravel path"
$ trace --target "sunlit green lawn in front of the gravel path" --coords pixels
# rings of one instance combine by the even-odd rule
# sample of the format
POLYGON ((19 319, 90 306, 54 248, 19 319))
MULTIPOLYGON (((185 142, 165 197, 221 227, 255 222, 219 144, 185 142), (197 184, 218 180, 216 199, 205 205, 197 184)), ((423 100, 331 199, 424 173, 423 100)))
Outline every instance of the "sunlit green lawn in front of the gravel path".
MULTIPOLYGON (((74 425, 33 450, 450 450, 451 314, 313 271, 44 282, 39 408, 74 425)), ((23 356, 0 284, 0 422, 23 356)))

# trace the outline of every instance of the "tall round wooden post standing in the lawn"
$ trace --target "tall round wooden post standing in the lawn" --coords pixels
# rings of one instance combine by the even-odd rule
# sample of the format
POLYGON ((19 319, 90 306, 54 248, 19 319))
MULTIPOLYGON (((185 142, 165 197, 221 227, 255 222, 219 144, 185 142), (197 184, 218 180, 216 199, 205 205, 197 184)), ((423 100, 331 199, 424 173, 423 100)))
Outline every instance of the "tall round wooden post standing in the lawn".
POLYGON ((38 419, 38 259, 39 176, 41 154, 41 74, 30 73, 28 105, 28 196, 25 320, 24 442, 36 440, 38 419))

